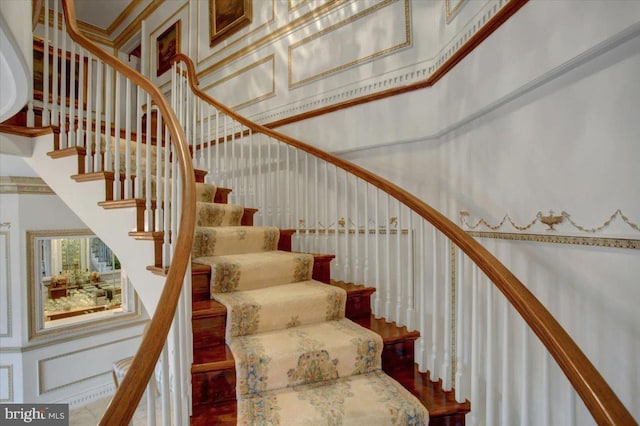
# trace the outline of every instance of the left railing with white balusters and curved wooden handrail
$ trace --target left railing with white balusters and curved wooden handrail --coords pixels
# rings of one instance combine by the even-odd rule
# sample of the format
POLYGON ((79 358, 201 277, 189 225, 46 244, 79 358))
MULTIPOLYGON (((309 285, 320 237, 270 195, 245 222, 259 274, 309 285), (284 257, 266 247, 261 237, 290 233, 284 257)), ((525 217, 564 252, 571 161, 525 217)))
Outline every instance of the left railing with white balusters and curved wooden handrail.
MULTIPOLYGON (((130 421, 161 354, 165 424, 171 422, 171 415, 174 424, 186 424, 189 409, 181 386, 190 379, 190 362, 186 351, 169 351, 167 346, 187 346, 190 334, 180 333, 185 327, 176 326, 172 341, 165 344, 176 310, 177 318, 187 318, 191 300, 182 298, 186 302, 178 307, 180 295, 190 292, 183 289, 183 280, 190 265, 195 222, 194 171, 185 135, 154 84, 80 33, 73 0, 62 0, 62 17, 57 0, 37 3, 37 10, 44 3, 44 25, 42 36, 34 38, 41 46, 39 55, 38 49, 34 52, 34 62, 40 64, 42 74, 35 85, 36 96, 28 104, 27 124, 59 127, 59 148, 85 156, 80 168, 86 176, 110 182, 105 192, 112 195, 105 195, 107 199, 120 203, 135 199, 145 207, 138 232, 151 238, 164 235, 162 264, 156 265, 168 269, 160 303, 101 424, 130 421), (146 120, 143 128, 143 116, 151 116, 152 105, 157 121, 152 127, 151 120, 146 120), (177 237, 169 241, 169 235, 177 237), (172 362, 168 362, 169 352, 172 362)), ((151 262, 142 260, 140 267, 151 262)), ((149 402, 154 404, 155 399, 149 402)))

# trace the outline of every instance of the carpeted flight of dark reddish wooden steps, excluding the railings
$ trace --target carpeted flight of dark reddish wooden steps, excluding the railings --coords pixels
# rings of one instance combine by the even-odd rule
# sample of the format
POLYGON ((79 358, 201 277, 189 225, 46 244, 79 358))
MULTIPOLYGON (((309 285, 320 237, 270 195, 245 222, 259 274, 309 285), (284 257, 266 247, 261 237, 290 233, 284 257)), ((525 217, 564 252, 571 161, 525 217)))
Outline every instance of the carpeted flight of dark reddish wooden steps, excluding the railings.
POLYGON ((456 403, 451 392, 417 371, 418 333, 373 318, 374 288, 331 281, 326 271, 333 256, 276 251, 290 248, 291 232, 265 239, 278 230, 236 227, 233 218, 241 217, 241 208, 212 203, 215 187, 198 186, 198 193, 207 195, 198 203, 200 227, 192 253, 193 425, 270 424, 276 419, 281 424, 424 424, 429 415, 431 424, 464 424, 469 404, 456 403), (203 243, 212 241, 212 234, 215 245, 203 243), (260 267, 253 269, 256 263, 260 267), (359 344, 349 349, 352 339, 359 344), (346 354, 333 358, 341 340, 346 354), (259 343, 272 348, 261 352, 259 343), (350 376, 353 359, 359 368, 350 376), (276 368, 267 373, 268 365, 276 368), (384 405, 379 394, 366 391, 368 386, 377 392, 391 389, 393 398, 387 396, 384 405), (354 395, 351 388, 365 391, 354 395), (314 395, 323 401, 315 409, 291 405, 305 399, 319 404, 314 395), (335 396, 334 405, 327 402, 330 396, 335 396), (372 398, 376 403, 368 405, 372 398))

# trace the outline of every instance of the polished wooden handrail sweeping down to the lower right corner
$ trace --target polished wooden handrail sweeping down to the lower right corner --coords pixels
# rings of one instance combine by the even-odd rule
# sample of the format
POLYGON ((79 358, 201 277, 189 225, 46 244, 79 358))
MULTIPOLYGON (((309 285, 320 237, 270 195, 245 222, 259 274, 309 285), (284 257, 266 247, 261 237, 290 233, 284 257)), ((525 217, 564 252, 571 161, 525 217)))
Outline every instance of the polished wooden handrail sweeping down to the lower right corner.
POLYGON ((194 83, 194 81, 197 81, 195 67, 187 56, 178 54, 174 58, 174 61, 182 61, 187 65, 189 85, 200 99, 210 103, 230 117, 233 117, 253 132, 265 134, 290 146, 301 149, 359 177, 404 203, 416 214, 429 221, 473 260, 489 279, 491 279, 495 286, 498 287, 518 313, 520 313, 522 318, 551 353, 562 371, 564 371, 598 424, 637 424, 609 384, 551 313, 506 266, 473 237, 469 236, 462 228, 415 195, 388 180, 356 164, 287 135, 253 123, 240 116, 232 109, 220 104, 215 99, 200 91, 194 83))

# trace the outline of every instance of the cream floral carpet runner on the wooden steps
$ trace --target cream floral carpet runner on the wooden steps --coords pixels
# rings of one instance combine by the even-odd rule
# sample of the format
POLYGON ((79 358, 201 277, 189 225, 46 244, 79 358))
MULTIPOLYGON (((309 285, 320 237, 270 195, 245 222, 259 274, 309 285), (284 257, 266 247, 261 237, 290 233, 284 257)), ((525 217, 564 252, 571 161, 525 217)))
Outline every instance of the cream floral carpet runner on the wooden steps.
POLYGON ((192 258, 227 308, 241 425, 424 425, 425 407, 381 370, 382 338, 345 318, 346 292, 311 279, 313 256, 197 184, 192 258))

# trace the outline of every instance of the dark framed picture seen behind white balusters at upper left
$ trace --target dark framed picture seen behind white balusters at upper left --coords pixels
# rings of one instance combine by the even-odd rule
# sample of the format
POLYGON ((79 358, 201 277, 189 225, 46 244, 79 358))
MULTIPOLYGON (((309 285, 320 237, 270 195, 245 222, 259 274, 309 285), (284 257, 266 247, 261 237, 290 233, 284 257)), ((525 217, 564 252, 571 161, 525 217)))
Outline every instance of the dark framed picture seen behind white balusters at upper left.
MULTIPOLYGON (((48 102, 52 103, 53 100, 53 46, 49 46, 49 99, 48 102)), ((58 88, 62 90, 62 63, 64 62, 66 65, 66 106, 70 106, 70 97, 71 97, 71 81, 75 83, 75 107, 78 107, 78 97, 80 94, 80 72, 84 74, 84 87, 83 93, 87 93, 87 69, 88 69, 88 58, 84 58, 83 66, 80 66, 80 55, 76 54, 75 57, 76 66, 75 66, 75 76, 72 80, 71 78, 71 52, 66 52, 66 61, 62 61, 61 53, 58 52, 58 88)), ((34 99, 39 101, 44 101, 44 41, 38 38, 34 38, 33 40, 33 96, 34 99)), ((59 104, 61 101, 62 93, 58 92, 57 103, 59 104)))

